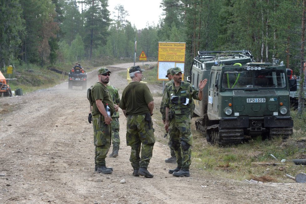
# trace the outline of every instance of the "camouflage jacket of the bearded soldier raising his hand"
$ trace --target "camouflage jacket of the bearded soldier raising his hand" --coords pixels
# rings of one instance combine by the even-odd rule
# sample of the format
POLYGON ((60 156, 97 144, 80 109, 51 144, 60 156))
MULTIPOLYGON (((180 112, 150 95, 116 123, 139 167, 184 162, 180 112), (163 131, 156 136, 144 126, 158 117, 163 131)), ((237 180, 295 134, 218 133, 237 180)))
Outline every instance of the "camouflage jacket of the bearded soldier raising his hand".
POLYGON ((194 86, 184 81, 177 91, 174 82, 167 88, 165 107, 174 112, 176 122, 191 123, 195 107, 193 99, 199 100, 198 93, 194 86))

